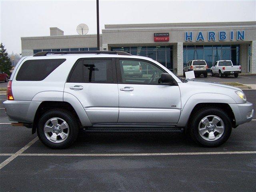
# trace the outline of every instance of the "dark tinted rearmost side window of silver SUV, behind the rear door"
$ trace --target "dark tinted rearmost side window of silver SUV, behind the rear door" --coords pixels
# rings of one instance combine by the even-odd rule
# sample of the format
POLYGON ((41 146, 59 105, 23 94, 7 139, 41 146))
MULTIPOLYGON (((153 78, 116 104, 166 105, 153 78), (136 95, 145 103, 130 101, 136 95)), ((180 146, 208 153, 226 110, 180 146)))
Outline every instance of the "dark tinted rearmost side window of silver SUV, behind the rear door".
POLYGON ((16 76, 17 81, 42 81, 66 59, 37 59, 25 61, 16 76))

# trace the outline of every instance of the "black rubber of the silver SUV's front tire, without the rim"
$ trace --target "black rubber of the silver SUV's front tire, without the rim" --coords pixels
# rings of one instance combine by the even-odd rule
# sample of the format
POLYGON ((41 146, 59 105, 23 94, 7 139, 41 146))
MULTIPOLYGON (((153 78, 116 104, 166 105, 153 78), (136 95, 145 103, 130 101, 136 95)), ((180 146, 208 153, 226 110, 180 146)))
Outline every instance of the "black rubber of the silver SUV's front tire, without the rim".
POLYGON ((232 124, 231 124, 230 118, 228 117, 226 112, 224 112, 220 108, 213 108, 213 107, 212 108, 203 108, 203 109, 199 110, 192 117, 192 121, 189 124, 188 129, 189 129, 188 132, 190 134, 190 137, 197 144, 200 144, 200 145, 206 146, 206 147, 217 147, 217 146, 222 145, 224 142, 226 142, 228 140, 228 138, 230 137, 230 134, 232 132, 232 124), (220 117, 222 119, 222 121, 224 122, 225 128, 224 128, 223 134, 220 136, 220 138, 218 138, 217 140, 214 140, 214 141, 205 140, 204 138, 202 138, 202 136, 200 136, 199 131, 198 131, 198 126, 199 126, 200 121, 208 115, 216 115, 216 116, 220 117))

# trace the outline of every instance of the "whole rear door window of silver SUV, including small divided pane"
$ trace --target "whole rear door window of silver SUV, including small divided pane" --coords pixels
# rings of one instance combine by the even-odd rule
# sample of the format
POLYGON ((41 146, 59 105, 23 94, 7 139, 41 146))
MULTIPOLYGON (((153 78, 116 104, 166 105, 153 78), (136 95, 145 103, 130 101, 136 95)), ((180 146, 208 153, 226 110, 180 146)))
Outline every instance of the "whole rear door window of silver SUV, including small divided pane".
POLYGON ((68 82, 112 83, 112 59, 79 60, 68 82))

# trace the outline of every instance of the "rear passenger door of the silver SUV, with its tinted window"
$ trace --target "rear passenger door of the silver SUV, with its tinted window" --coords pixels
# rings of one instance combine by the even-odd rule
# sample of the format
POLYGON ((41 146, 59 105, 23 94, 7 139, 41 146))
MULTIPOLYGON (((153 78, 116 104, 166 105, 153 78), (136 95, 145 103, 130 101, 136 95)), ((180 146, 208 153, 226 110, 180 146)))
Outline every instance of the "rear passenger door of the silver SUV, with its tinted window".
POLYGON ((112 58, 79 59, 65 83, 64 92, 74 95, 92 124, 118 120, 118 84, 112 58))

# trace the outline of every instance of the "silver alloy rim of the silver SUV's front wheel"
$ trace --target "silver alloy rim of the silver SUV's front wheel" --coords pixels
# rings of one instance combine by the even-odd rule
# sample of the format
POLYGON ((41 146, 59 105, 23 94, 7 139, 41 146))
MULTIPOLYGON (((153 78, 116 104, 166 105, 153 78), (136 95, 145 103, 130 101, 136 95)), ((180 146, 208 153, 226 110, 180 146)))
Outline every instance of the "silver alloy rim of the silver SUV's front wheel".
POLYGON ((216 115, 208 115, 199 122, 198 132, 207 141, 215 141, 224 133, 224 122, 216 115))

